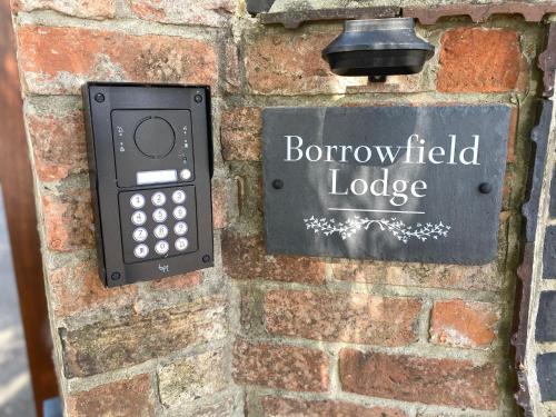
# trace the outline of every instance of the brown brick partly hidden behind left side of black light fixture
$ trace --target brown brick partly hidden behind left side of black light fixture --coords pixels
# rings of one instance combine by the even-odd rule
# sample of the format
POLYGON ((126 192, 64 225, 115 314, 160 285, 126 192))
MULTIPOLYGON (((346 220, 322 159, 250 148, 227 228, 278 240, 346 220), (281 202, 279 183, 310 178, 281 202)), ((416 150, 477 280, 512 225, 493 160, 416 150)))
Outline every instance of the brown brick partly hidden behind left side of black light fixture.
POLYGON ((365 86, 366 78, 337 77, 320 57, 335 31, 266 30, 246 46, 247 82, 255 93, 341 93, 348 86, 365 86))

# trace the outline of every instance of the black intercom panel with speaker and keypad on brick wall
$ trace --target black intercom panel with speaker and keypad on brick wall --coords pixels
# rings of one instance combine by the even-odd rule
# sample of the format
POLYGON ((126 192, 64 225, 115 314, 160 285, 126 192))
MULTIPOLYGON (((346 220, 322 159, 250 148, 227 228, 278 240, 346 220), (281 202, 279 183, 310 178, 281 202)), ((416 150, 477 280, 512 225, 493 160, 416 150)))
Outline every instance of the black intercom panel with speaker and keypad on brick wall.
POLYGON ((90 82, 82 92, 105 285, 211 267, 209 88, 90 82))

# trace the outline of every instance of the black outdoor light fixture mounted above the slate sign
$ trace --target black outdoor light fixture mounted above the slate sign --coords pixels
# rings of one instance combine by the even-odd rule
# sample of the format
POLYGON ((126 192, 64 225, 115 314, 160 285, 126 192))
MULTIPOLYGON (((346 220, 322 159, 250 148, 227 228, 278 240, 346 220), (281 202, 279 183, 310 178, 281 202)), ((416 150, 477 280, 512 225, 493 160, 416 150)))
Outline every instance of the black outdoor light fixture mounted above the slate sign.
POLYGON ((413 18, 391 18, 347 20, 322 58, 338 76, 384 82, 387 76, 420 72, 434 53, 435 47, 415 33, 413 18))

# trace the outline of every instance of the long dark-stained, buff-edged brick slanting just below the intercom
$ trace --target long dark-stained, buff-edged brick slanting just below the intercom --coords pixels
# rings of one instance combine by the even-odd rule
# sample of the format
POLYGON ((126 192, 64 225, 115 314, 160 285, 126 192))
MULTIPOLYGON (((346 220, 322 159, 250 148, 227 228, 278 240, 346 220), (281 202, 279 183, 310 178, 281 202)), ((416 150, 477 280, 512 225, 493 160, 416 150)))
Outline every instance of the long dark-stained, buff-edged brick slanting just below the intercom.
POLYGON ((199 298, 183 306, 60 328, 68 378, 125 368, 226 336, 226 300, 199 298))

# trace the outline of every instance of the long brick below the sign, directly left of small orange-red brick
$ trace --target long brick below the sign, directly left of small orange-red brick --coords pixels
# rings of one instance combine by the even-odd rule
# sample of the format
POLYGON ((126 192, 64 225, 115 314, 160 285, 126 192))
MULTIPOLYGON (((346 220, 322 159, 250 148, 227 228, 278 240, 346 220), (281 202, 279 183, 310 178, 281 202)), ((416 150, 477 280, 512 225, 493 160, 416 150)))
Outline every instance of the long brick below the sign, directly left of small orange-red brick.
POLYGON ((266 297, 269 332, 308 339, 403 346, 417 339, 414 298, 276 290, 266 297))

